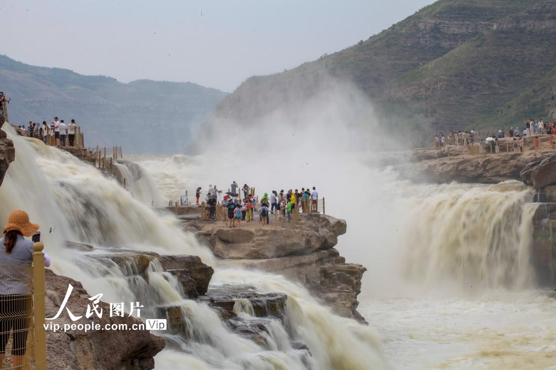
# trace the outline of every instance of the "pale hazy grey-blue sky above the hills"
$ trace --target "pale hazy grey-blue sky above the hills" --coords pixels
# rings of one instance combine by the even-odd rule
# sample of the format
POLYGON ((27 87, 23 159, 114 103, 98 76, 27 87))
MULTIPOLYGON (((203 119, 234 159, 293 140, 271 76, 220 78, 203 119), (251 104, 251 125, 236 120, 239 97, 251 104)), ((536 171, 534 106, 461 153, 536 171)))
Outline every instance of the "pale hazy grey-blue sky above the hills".
POLYGON ((231 92, 249 76, 339 51, 432 2, 3 0, 0 54, 123 82, 191 81, 231 92))

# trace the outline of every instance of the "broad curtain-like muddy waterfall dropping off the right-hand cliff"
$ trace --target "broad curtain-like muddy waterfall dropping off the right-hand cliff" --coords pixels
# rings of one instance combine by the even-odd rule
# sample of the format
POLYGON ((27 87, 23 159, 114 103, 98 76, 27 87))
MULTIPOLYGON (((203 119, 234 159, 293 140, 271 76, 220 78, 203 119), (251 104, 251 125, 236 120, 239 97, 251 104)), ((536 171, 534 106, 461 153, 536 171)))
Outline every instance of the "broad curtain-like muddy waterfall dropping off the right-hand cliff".
POLYGON ((425 286, 523 289, 532 285, 533 191, 518 182, 445 187, 412 200, 403 227, 406 276, 425 286), (448 280, 448 281, 446 281, 448 280))

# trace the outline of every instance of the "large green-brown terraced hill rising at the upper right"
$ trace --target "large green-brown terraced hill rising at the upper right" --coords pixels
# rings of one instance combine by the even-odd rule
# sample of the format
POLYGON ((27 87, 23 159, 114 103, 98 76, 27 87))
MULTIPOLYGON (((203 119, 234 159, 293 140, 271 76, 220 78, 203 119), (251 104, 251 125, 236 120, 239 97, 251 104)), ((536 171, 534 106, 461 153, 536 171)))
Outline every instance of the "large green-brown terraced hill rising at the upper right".
POLYGON ((555 44, 556 0, 440 0, 340 52, 247 79, 215 117, 256 122, 299 106, 332 76, 353 82, 381 119, 416 140, 509 128, 556 107, 555 44))

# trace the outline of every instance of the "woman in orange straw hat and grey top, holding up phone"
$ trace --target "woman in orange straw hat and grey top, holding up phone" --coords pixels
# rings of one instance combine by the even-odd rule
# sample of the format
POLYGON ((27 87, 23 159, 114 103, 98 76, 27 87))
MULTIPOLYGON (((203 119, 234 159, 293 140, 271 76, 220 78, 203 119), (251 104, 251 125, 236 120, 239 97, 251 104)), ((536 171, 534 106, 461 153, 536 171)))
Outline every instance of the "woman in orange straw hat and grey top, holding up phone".
MULTIPOLYGON (((12 362, 18 368, 23 366, 33 312, 33 296, 28 282, 31 281, 34 243, 24 236, 33 236, 38 229, 37 224, 29 222, 26 212, 13 211, 4 227, 4 237, 0 239, 0 264, 3 266, 0 269, 0 364, 4 361, 12 331, 12 362)), ((49 266, 50 257, 44 253, 44 267, 49 266)))

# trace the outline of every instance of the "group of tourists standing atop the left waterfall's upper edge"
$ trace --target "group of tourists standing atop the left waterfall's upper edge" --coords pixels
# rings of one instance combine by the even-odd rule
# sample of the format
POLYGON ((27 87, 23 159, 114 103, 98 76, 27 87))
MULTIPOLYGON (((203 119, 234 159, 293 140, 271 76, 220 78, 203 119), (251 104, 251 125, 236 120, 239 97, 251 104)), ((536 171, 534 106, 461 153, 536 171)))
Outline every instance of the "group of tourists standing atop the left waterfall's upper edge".
POLYGON ((54 145, 58 147, 73 147, 76 143, 75 136, 77 134, 77 123, 72 119, 69 124, 64 123, 63 119, 54 117, 54 121, 47 124, 46 121, 41 123, 29 121, 27 127, 25 124, 18 126, 19 133, 23 136, 34 137, 47 142, 48 137, 54 136, 54 145))

